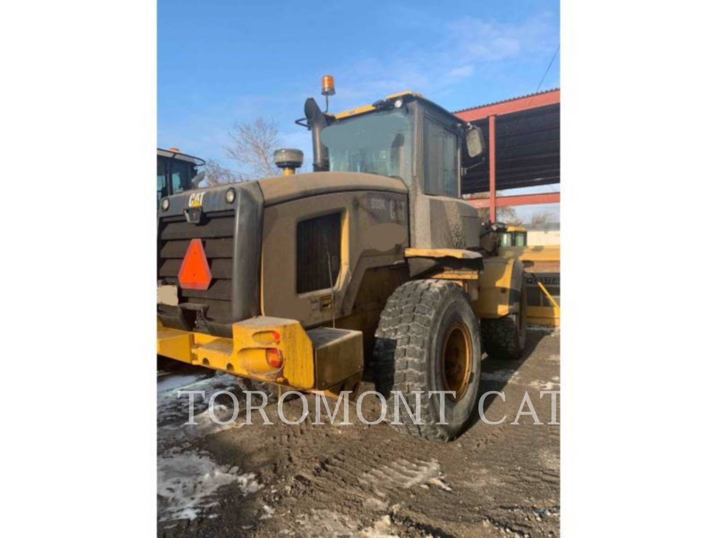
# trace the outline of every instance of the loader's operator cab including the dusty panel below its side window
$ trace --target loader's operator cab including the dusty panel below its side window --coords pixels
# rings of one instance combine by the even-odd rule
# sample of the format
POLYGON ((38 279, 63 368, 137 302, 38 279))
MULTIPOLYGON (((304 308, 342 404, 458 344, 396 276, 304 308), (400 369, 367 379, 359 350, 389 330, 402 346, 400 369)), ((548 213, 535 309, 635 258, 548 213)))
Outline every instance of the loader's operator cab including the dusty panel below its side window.
POLYGON ((478 247, 483 223, 461 199, 460 178, 482 159, 480 128, 413 92, 336 114, 309 98, 304 112, 297 123, 312 131, 314 171, 402 179, 412 247, 478 247))

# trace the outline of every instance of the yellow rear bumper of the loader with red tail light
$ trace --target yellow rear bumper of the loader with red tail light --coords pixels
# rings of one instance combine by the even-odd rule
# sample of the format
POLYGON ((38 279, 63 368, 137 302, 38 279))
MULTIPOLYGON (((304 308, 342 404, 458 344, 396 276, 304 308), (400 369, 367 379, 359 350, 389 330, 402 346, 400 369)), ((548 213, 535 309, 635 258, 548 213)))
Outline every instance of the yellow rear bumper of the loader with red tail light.
POLYGON ((328 390, 360 379, 364 369, 360 331, 306 331, 293 319, 258 316, 233 324, 232 337, 223 338, 157 323, 157 353, 164 357, 299 390, 328 390), (267 363, 267 349, 280 353, 282 367, 267 363))

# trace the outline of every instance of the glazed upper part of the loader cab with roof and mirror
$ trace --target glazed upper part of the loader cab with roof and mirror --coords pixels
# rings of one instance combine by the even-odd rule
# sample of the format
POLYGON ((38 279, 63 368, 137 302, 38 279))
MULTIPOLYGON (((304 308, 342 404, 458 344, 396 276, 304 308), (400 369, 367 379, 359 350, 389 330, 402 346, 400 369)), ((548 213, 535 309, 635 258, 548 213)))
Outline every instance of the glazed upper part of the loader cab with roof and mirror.
POLYGON ((462 151, 471 159, 485 147, 480 129, 413 92, 336 115, 308 99, 305 113, 297 123, 314 131, 314 171, 399 177, 409 188, 422 178, 415 186, 434 196, 460 197, 462 151))

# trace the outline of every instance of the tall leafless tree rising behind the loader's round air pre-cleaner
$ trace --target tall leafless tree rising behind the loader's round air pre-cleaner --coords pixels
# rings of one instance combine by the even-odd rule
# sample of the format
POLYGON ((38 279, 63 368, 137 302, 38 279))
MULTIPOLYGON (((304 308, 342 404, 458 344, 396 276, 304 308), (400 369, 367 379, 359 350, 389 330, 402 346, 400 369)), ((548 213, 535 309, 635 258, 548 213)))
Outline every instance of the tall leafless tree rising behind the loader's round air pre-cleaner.
POLYGON ((274 151, 279 148, 279 131, 276 122, 257 118, 255 121, 234 123, 229 131, 232 142, 224 149, 246 170, 246 179, 276 176, 274 151))

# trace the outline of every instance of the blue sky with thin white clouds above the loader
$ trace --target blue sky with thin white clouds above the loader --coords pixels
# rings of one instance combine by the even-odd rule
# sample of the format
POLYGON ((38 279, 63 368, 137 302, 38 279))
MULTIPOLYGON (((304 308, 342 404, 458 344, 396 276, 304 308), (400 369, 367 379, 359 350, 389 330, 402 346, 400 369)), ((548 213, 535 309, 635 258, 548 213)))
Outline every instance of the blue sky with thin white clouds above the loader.
POLYGON ((333 111, 402 90, 456 110, 532 93, 558 44, 558 1, 158 0, 157 143, 232 167, 227 131, 262 116, 308 155, 321 75, 333 111))

